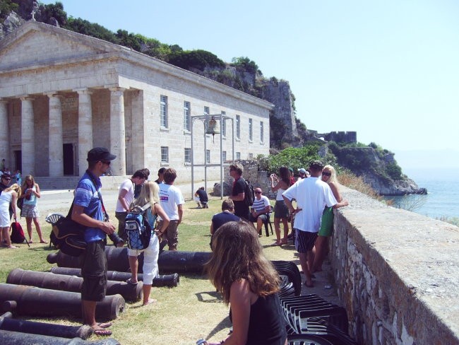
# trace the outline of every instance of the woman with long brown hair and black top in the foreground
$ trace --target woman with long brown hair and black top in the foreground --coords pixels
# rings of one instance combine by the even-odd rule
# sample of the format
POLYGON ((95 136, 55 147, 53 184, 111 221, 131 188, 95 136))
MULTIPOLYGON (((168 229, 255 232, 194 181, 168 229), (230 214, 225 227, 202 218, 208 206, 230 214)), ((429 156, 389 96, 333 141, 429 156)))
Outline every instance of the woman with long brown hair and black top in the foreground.
POLYGON ((205 264, 210 281, 231 305, 232 344, 287 344, 285 322, 278 297, 279 274, 263 254, 254 226, 231 221, 213 236, 213 253, 205 264))

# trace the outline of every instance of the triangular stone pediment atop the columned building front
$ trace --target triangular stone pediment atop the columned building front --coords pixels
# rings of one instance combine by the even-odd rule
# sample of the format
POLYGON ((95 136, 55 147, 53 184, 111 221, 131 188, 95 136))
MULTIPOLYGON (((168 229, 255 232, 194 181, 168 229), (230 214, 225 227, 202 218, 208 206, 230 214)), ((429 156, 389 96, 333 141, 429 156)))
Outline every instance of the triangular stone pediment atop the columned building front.
POLYGON ((96 57, 119 52, 120 48, 94 37, 29 21, 0 41, 0 71, 96 57))

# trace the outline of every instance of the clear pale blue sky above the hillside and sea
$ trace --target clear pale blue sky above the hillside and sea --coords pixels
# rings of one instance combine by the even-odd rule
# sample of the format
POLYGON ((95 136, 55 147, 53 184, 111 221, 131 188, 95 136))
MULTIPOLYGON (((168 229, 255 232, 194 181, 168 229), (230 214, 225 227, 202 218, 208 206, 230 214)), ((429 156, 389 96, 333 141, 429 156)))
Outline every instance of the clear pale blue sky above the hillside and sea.
POLYGON ((307 128, 357 131, 403 169, 459 168, 457 0, 61 2, 114 32, 249 57, 290 82, 307 128))

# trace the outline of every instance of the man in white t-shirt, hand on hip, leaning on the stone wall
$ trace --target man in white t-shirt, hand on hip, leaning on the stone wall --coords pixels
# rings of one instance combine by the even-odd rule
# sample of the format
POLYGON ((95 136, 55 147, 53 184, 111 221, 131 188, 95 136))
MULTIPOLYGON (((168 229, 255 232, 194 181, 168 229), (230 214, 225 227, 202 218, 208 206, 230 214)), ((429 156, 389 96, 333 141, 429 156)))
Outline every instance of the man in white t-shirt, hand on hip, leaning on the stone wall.
POLYGON ((302 265, 305 285, 312 287, 312 274, 309 270, 314 262, 312 248, 316 242, 317 233, 321 228, 321 218, 325 206, 338 207, 347 206, 347 201, 338 203, 333 196, 330 186, 318 178, 323 169, 320 160, 314 160, 309 166, 311 177, 299 180, 289 189, 282 193, 285 204, 290 212, 295 215, 295 248, 299 253, 299 263, 302 265), (297 201, 297 209, 293 209, 292 199, 297 201))

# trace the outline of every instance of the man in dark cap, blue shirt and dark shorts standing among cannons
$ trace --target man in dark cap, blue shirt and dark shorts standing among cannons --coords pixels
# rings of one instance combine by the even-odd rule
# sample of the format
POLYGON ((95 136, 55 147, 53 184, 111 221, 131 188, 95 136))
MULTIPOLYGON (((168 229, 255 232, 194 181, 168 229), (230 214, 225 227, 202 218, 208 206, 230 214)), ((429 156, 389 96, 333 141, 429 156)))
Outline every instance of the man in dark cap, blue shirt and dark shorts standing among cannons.
POLYGON ((76 186, 72 211, 73 221, 86 227, 87 247, 79 257, 83 276, 81 291, 83 324, 88 324, 93 328, 93 332, 100 336, 112 334, 105 329, 111 325, 110 323, 97 324, 95 321, 95 306, 98 301, 105 298, 107 291, 105 242, 107 234, 111 235, 115 230, 103 209, 100 176, 109 170, 110 163, 116 157, 103 147, 95 147, 88 152, 88 170, 76 186))

